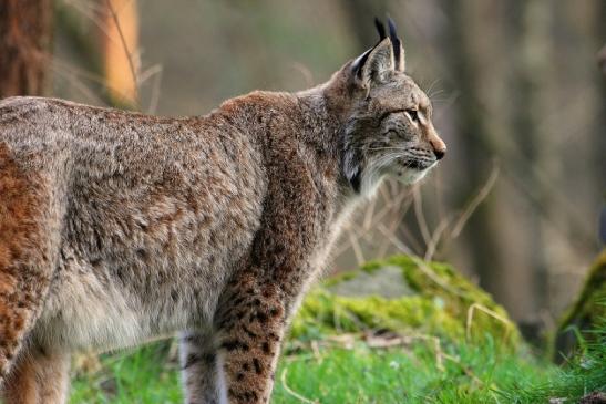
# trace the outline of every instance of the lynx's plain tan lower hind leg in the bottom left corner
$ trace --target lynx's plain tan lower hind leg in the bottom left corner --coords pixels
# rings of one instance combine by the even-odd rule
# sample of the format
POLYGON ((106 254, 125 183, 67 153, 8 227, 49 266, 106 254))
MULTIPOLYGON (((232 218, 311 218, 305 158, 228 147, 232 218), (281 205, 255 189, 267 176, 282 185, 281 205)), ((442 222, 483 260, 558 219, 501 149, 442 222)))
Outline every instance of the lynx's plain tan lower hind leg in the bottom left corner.
POLYGON ((66 403, 69 370, 69 354, 23 349, 7 377, 3 393, 4 403, 66 403))

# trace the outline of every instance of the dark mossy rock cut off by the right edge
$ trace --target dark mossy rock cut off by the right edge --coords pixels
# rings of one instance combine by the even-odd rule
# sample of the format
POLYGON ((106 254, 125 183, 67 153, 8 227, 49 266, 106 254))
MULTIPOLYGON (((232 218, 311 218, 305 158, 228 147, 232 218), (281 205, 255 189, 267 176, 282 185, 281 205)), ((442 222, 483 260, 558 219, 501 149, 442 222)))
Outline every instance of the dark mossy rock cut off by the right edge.
POLYGON ((555 359, 565 358, 579 339, 592 340, 594 330, 606 319, 606 249, 597 257, 587 273, 581 293, 564 313, 555 339, 555 359))

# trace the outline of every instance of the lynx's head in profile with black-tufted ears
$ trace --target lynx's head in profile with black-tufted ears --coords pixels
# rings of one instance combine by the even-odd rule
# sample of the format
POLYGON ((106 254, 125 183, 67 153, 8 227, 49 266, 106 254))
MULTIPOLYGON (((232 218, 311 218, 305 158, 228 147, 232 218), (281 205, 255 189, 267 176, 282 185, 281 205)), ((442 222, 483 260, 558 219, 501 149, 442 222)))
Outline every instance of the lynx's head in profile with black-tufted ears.
POLYGON ((339 104, 341 170, 355 191, 372 194, 384 176, 404 184, 422 178, 445 152, 425 93, 404 73, 402 42, 389 19, 376 20, 379 42, 329 82, 328 103, 339 104))

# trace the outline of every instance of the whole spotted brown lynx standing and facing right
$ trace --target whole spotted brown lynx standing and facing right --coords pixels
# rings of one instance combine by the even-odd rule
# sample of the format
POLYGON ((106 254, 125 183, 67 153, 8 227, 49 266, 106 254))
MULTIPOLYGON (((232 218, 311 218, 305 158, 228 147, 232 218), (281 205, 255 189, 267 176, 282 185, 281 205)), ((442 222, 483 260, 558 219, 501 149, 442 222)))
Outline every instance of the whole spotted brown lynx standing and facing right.
POLYGON ((73 352, 179 333, 186 403, 267 403, 339 224, 444 156, 389 33, 325 84, 198 117, 0 101, 0 383, 65 403, 73 352))

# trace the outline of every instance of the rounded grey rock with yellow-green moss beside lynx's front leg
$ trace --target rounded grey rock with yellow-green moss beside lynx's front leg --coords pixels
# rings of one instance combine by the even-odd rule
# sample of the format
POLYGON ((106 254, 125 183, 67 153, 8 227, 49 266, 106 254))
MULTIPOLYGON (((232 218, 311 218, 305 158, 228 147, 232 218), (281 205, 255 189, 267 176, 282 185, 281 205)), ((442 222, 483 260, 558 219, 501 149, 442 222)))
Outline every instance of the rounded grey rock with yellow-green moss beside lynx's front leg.
POLYGON ((327 280, 304 301, 292 323, 299 339, 388 329, 516 346, 520 333, 505 310, 451 266, 393 256, 327 280))

